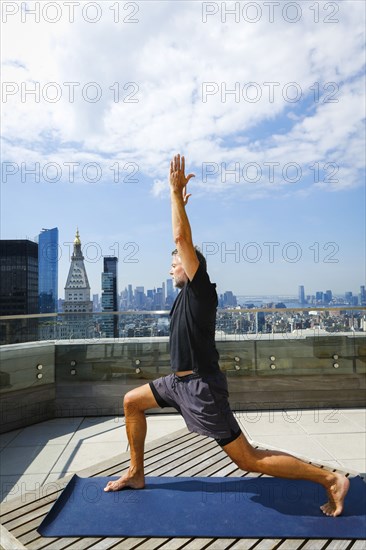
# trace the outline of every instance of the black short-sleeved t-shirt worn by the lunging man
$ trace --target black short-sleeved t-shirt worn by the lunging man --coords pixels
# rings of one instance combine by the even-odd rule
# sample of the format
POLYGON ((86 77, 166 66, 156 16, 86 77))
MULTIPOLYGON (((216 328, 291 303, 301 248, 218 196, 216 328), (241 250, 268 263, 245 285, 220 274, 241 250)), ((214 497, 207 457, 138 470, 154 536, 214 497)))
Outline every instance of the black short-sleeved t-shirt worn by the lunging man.
POLYGON ((220 368, 215 346, 216 285, 200 264, 192 281, 178 294, 170 311, 170 357, 173 371, 193 370, 201 376, 220 368))

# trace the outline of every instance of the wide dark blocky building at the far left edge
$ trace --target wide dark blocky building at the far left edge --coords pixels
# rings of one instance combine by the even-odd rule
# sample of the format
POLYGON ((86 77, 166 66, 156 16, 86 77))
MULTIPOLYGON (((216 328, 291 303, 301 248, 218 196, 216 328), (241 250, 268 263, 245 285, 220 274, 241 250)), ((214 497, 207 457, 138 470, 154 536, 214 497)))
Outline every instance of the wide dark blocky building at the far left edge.
MULTIPOLYGON (((38 244, 29 240, 0 241, 0 315, 39 313, 38 244)), ((38 340, 38 320, 3 321, 1 343, 38 340)))

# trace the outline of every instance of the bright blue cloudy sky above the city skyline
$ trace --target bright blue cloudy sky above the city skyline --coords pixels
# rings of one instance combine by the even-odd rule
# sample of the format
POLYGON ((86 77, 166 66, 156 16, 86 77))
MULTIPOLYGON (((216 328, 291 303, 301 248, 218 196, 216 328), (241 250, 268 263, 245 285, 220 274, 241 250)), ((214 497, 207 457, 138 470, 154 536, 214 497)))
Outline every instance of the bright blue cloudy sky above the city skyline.
POLYGON ((248 2, 81 2, 73 22, 63 2, 7 4, 1 238, 57 226, 60 296, 77 227, 94 293, 103 255, 120 290, 169 277, 176 152, 220 291, 365 284, 363 2, 272 22, 261 2, 256 22, 248 2))

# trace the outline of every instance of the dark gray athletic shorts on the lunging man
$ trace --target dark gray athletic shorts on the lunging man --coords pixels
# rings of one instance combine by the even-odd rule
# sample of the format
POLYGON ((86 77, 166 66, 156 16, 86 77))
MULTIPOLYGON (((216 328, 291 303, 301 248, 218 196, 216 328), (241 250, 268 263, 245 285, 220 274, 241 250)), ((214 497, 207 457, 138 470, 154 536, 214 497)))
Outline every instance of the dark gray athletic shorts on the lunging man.
POLYGON ((241 434, 228 397, 226 376, 221 371, 212 376, 168 374, 150 382, 160 407, 174 407, 191 432, 213 437, 224 446, 241 434))

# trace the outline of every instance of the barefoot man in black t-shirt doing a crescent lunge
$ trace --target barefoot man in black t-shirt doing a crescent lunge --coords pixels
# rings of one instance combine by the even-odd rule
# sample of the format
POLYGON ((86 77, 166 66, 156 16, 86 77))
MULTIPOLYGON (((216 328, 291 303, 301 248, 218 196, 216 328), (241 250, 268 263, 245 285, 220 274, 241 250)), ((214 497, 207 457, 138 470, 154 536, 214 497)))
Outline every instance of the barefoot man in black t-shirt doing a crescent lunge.
POLYGON ((127 437, 131 449, 129 470, 105 491, 144 487, 145 410, 173 406, 191 431, 216 439, 237 466, 288 479, 307 479, 323 485, 327 516, 338 516, 349 488, 342 474, 307 464, 280 451, 254 449, 241 432, 229 407, 226 378, 218 365, 215 347, 217 294, 206 272, 206 262, 193 246, 186 214, 190 194, 184 157, 170 163, 173 238, 176 250, 170 274, 181 291, 171 311, 170 353, 173 373, 128 392, 124 399, 127 437))

